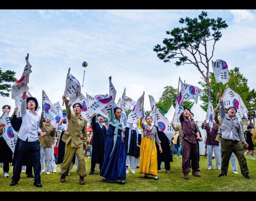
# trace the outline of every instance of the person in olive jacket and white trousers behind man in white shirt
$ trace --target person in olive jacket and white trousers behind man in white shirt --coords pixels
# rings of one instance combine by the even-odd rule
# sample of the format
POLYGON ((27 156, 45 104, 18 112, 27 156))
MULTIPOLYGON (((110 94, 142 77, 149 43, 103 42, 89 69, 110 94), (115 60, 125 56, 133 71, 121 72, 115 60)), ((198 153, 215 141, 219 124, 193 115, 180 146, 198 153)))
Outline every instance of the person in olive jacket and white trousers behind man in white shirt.
MULTIPOLYGON (((44 113, 41 113, 40 120, 40 128, 42 132, 46 133, 45 137, 38 136, 38 140, 40 141, 40 155, 41 155, 41 170, 45 169, 45 161, 46 161, 46 174, 50 174, 51 163, 52 163, 52 139, 56 134, 56 128, 50 123, 51 120, 45 119, 44 113)), ((55 170, 56 172, 56 170, 55 170)), ((42 174, 42 173, 41 173, 42 174)))

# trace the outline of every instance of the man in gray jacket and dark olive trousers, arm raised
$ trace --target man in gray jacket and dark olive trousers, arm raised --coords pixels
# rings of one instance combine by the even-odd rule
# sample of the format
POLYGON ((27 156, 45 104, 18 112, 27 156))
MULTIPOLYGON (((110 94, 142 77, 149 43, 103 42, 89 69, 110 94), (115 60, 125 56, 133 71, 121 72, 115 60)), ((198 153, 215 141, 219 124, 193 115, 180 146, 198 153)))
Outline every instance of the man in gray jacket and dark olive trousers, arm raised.
POLYGON ((229 168, 229 159, 234 152, 240 165, 241 174, 245 179, 250 179, 248 176, 249 170, 244 155, 244 147, 242 143, 248 147, 242 133, 241 124, 238 118, 235 117, 237 109, 229 107, 228 114, 225 114, 225 106, 219 96, 219 113, 221 119, 221 126, 219 127, 218 134, 221 136, 221 174, 218 177, 227 177, 227 169, 229 168))

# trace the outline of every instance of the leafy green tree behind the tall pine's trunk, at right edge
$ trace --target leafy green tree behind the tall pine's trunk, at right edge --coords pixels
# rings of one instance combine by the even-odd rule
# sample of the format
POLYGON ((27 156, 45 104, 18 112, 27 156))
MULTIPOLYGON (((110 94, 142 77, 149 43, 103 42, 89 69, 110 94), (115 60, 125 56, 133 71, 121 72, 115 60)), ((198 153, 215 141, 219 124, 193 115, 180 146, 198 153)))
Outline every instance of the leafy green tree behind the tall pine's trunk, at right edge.
MULTIPOLYGON (((247 107, 247 109, 249 109, 251 107, 256 106, 256 91, 255 89, 250 91, 247 85, 247 81, 248 79, 246 79, 243 76, 243 74, 240 73, 239 68, 235 67, 235 69, 231 69, 229 71, 229 82, 227 84, 218 83, 219 90, 223 94, 226 86, 228 85, 229 88, 231 88, 231 90, 234 90, 241 96, 245 106, 247 107)), ((207 90, 207 85, 204 80, 199 81, 199 84, 203 87, 203 90, 207 90)), ((217 87, 214 75, 213 73, 210 73, 210 94, 211 94, 211 102, 213 107, 217 107, 219 103, 217 93, 218 93, 218 87, 217 87)), ((204 102, 202 107, 205 111, 207 111, 207 107, 208 107, 207 95, 203 94, 200 96, 199 99, 204 102)))

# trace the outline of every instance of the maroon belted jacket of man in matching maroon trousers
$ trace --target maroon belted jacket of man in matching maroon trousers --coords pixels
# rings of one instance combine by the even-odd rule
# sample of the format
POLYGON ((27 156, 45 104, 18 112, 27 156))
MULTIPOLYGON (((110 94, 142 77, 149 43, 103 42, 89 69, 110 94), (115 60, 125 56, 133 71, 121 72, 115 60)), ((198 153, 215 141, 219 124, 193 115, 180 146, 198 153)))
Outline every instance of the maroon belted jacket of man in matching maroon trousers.
POLYGON ((183 134, 187 135, 193 135, 194 138, 191 137, 182 137, 182 140, 187 140, 190 143, 196 144, 196 133, 199 132, 196 122, 195 121, 190 121, 187 117, 183 115, 184 113, 182 112, 180 115, 180 123, 181 123, 181 128, 183 131, 183 134))

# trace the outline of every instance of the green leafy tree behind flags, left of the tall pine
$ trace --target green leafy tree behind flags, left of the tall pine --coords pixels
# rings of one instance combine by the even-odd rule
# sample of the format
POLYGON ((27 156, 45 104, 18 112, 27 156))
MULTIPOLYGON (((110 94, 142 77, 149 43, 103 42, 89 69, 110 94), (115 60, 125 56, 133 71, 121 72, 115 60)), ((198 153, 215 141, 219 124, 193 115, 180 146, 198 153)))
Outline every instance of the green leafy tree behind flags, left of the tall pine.
MULTIPOLYGON (((159 98, 159 101, 155 103, 155 107, 159 110, 159 112, 166 114, 170 107, 173 104, 173 107, 175 108, 175 101, 177 100, 177 91, 178 89, 173 88, 172 86, 166 86, 164 87, 164 91, 159 98)), ((193 106, 193 102, 186 101, 183 102, 183 105, 185 107, 188 107, 189 109, 193 106)))

